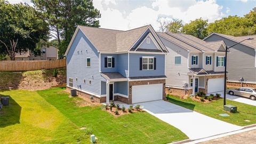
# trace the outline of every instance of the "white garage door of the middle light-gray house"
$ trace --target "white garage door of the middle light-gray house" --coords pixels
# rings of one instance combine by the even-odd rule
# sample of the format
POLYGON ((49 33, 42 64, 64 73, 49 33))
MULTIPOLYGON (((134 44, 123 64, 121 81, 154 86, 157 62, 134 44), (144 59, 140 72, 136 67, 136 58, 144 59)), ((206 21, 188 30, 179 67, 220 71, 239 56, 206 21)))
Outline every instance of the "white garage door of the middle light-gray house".
POLYGON ((208 80, 208 93, 224 91, 224 78, 212 78, 208 80))

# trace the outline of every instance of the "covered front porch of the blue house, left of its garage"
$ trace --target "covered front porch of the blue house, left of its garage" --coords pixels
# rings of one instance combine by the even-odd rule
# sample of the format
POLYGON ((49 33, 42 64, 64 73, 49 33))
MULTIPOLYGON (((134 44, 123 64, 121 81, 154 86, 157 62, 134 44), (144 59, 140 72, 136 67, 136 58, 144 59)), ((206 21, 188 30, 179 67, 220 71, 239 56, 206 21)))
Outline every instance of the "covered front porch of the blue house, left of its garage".
POLYGON ((101 81, 101 96, 106 97, 106 103, 121 101, 128 103, 128 78, 120 73, 101 73, 107 81, 101 81))

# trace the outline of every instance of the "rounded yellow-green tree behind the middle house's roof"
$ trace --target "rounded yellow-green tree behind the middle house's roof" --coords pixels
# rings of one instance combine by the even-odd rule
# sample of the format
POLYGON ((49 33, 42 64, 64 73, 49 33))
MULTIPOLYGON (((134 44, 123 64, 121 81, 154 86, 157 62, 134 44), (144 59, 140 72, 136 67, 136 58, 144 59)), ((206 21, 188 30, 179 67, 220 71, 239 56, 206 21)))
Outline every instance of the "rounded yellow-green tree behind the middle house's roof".
POLYGON ((203 20, 202 18, 190 21, 182 27, 181 33, 193 35, 197 38, 203 39, 205 36, 207 36, 207 22, 208 20, 203 20))

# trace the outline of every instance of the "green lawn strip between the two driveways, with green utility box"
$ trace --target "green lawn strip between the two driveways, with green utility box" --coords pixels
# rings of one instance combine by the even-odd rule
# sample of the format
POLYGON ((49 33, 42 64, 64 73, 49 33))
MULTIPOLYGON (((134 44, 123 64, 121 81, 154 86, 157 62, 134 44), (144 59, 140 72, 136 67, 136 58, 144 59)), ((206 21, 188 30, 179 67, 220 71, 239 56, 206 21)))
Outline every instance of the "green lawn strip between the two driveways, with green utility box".
POLYGON ((211 103, 202 103, 194 100, 188 99, 180 99, 179 97, 175 97, 174 95, 170 95, 169 102, 174 103, 175 105, 179 105, 185 107, 190 110, 197 111, 198 113, 220 119, 221 121, 225 121, 231 124, 246 126, 250 124, 256 123, 256 107, 251 105, 246 105, 241 102, 236 102, 232 100, 227 100, 227 105, 237 106, 237 113, 228 113, 223 110, 223 99, 219 99, 217 101, 213 101, 211 103), (219 114, 228 114, 228 117, 219 116, 219 114), (249 120, 251 122, 245 122, 244 120, 249 120))

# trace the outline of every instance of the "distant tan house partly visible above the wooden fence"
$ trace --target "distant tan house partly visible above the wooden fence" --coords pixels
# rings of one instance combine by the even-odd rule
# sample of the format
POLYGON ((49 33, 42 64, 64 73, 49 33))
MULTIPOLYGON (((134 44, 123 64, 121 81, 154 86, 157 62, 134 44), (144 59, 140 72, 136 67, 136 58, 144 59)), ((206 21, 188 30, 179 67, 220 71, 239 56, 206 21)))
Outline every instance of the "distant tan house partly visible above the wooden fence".
POLYGON ((33 52, 29 50, 27 52, 16 53, 15 60, 57 60, 58 51, 54 46, 42 46, 40 56, 35 57, 33 52))

